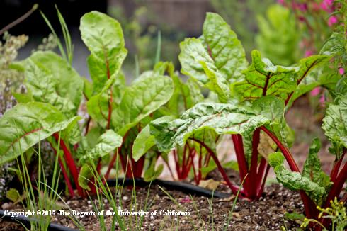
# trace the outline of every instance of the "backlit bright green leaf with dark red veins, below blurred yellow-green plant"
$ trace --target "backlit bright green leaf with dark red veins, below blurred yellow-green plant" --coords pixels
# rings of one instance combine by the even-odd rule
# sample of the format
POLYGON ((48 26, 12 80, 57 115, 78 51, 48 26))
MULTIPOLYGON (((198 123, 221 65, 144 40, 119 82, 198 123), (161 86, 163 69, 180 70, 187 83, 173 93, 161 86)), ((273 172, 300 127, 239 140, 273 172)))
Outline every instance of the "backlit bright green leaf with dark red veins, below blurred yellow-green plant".
POLYGON ((283 67, 274 65, 267 58, 262 58, 260 52, 254 50, 252 52, 252 64, 244 71, 246 74, 244 81, 234 84, 233 91, 244 100, 251 101, 269 95, 288 101, 288 98, 294 94, 295 97, 290 98, 290 103, 292 103, 295 98, 305 94, 309 88, 315 86, 310 84, 309 88, 297 89, 297 85, 307 77, 312 69, 327 60, 329 60, 329 56, 313 55, 300 60, 299 64, 295 66, 283 67))

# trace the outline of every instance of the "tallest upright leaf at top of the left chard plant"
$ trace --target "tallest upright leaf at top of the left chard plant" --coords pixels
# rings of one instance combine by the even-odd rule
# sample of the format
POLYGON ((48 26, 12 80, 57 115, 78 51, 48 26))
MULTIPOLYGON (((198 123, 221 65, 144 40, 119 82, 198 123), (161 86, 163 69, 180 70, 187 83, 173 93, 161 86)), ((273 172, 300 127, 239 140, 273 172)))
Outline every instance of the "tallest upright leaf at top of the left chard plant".
POLYGON ((116 77, 127 55, 123 30, 114 18, 91 11, 81 18, 81 38, 91 51, 88 66, 93 94, 98 94, 108 79, 116 77))

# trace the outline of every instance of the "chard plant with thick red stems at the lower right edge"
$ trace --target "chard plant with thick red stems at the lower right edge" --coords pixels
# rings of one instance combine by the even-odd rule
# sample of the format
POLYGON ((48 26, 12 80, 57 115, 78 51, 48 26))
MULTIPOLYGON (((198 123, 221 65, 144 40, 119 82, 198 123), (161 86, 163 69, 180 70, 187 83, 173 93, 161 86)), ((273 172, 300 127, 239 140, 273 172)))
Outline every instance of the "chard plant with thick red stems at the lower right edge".
MULTIPOLYGON (((339 87, 341 86, 338 85, 339 87)), ((334 198, 340 198, 343 184, 347 180, 347 163, 343 164, 343 157, 345 157, 347 150, 346 112, 347 101, 346 91, 344 91, 343 95, 337 97, 334 103, 329 105, 322 124, 324 133, 331 142, 329 152, 336 156, 329 175, 322 171, 321 168, 318 157, 321 144, 317 138, 309 148, 308 157, 302 172, 300 172, 288 147, 283 145, 271 132, 266 131, 274 142, 278 144, 281 151, 274 152, 269 156, 269 164, 274 168, 278 181, 291 190, 300 191, 301 193, 305 192, 310 199, 310 201, 303 200, 307 217, 314 218, 320 222, 323 220, 324 226, 329 226, 329 219, 324 220, 324 218, 318 217, 319 210, 317 208, 328 208, 331 201, 334 201, 334 198), (284 167, 284 159, 287 159, 287 161, 292 159, 292 161, 288 162, 291 171, 284 167)), ((346 195, 343 196, 341 203, 346 202, 346 199, 346 195)), ((319 229, 320 227, 317 228, 319 229)))

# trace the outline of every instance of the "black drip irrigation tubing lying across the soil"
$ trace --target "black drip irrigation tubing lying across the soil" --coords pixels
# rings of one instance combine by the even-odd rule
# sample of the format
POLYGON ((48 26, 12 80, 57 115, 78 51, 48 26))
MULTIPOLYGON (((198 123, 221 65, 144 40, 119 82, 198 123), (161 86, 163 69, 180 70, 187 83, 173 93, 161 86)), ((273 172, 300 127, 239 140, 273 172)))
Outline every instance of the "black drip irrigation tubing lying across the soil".
MULTIPOLYGON (((154 186, 159 185, 163 186, 169 190, 175 190, 175 191, 181 191, 182 193, 191 194, 195 196, 205 196, 205 197, 212 197, 213 198, 227 198, 230 196, 228 193, 222 193, 219 191, 210 191, 206 188, 202 188, 199 186, 195 186, 188 183, 183 183, 179 181, 162 181, 159 179, 155 179, 152 182, 144 181, 142 178, 135 178, 135 179, 110 179, 107 181, 108 186, 140 186, 140 187, 146 187, 146 186, 154 186)), ((4 210, 0 210, 0 221, 6 220, 8 222, 15 222, 21 225, 25 225, 28 229, 30 229, 30 222, 39 222, 35 218, 28 218, 25 216, 18 216, 18 217, 12 217, 11 215, 5 215, 4 210)), ((55 223, 50 223, 48 226, 48 230, 50 231, 77 231, 76 229, 72 229, 70 227, 66 227, 63 225, 58 225, 55 223)))

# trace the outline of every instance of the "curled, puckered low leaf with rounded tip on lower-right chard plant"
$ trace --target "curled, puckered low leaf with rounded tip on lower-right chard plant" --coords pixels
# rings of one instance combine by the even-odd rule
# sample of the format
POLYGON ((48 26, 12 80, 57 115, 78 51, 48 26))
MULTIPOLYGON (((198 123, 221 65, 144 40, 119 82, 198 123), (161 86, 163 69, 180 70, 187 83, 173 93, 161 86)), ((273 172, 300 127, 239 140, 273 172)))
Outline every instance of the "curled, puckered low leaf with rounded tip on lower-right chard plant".
POLYGON ((326 188, 302 176, 300 172, 289 171, 283 165, 284 157, 280 152, 269 155, 268 163, 274 168, 278 182, 290 190, 302 190, 318 205, 326 193, 326 188))

